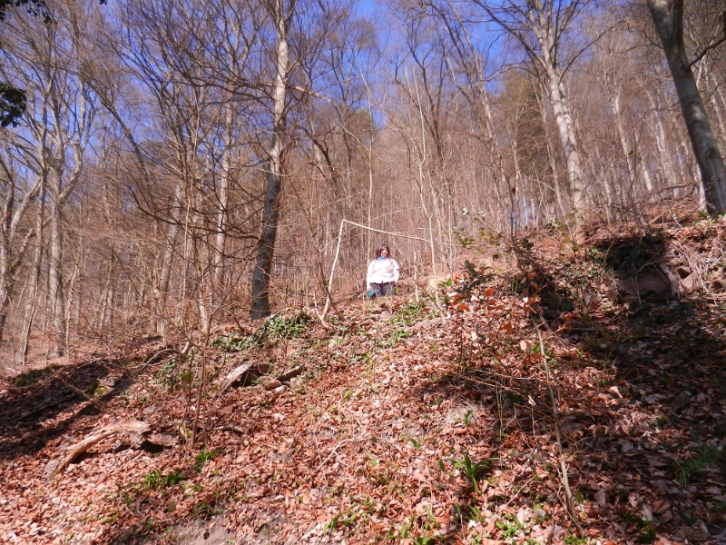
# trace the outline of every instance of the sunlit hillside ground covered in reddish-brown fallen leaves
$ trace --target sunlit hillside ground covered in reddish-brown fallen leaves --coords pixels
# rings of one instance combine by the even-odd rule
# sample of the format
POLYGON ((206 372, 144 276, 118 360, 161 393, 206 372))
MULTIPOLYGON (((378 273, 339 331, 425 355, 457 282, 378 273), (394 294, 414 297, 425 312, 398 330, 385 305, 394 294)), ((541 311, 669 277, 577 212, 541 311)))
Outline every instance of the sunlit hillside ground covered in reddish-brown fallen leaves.
POLYGON ((338 302, 2 379, 0 541, 726 543, 726 220, 467 245, 443 317, 338 302))

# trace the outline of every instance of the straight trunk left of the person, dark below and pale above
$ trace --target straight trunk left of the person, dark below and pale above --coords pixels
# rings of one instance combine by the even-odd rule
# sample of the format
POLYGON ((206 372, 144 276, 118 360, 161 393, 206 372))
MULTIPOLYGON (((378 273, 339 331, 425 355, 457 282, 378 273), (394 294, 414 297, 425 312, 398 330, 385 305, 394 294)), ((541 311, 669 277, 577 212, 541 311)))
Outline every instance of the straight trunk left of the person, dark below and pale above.
POLYGON ((267 163, 267 193, 262 213, 262 233, 258 242, 255 269, 252 273, 252 301, 250 318, 260 320, 270 315, 270 272, 275 239, 278 234, 280 215, 280 193, 282 189, 282 139, 285 133, 285 97, 288 84, 289 51, 288 26, 295 0, 289 4, 287 14, 284 0, 274 0, 272 12, 277 26, 277 75, 275 77, 275 98, 272 106, 272 142, 267 163))

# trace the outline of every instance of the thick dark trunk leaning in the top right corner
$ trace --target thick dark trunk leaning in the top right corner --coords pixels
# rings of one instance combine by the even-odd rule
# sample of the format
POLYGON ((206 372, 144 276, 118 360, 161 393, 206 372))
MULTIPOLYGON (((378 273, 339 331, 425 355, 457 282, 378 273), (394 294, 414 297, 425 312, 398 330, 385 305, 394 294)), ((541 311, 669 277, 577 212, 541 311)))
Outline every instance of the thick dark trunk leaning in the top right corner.
POLYGON ((671 70, 681 104, 683 121, 691 138, 693 154, 701 171, 701 183, 709 213, 726 212, 726 168, 711 132, 693 71, 683 45, 683 0, 648 0, 652 21, 671 70))

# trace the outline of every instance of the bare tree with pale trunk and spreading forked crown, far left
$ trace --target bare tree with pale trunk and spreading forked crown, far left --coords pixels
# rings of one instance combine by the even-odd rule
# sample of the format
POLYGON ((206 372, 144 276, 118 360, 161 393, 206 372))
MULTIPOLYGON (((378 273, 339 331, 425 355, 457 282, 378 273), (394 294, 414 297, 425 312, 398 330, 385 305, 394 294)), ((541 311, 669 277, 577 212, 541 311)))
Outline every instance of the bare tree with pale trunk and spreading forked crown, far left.
MULTIPOLYGON (((81 180, 85 149, 93 128, 95 107, 79 65, 83 39, 78 24, 83 5, 58 2, 49 5, 53 22, 35 25, 17 18, 11 25, 17 36, 9 48, 6 66, 29 94, 25 130, 18 138, 25 150, 34 147, 28 171, 37 180, 26 198, 47 195, 49 305, 53 316, 54 352, 66 351, 64 297, 64 204, 81 180), (58 62, 63 59, 64 62, 58 62)), ((15 191, 15 190, 14 190, 15 191)), ((10 201, 11 208, 14 207, 10 201)), ((29 201, 17 209, 25 213, 29 201)), ((39 207, 42 210, 44 207, 39 207)), ((9 225, 12 231, 12 224, 9 225)), ((12 233, 9 233, 12 236, 12 233)), ((34 233, 39 234, 39 233, 34 233)))

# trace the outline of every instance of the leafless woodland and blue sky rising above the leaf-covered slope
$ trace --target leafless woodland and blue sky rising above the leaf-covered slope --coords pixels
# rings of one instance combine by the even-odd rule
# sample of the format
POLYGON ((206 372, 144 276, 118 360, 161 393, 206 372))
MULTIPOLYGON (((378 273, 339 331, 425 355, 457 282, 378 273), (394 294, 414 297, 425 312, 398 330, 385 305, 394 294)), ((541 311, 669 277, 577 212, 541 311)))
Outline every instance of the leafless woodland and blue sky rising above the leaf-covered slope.
POLYGON ((722 2, 102 4, 0 2, 20 365, 362 292, 383 242, 418 279, 527 228, 726 209, 722 2))

